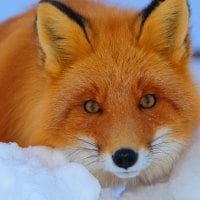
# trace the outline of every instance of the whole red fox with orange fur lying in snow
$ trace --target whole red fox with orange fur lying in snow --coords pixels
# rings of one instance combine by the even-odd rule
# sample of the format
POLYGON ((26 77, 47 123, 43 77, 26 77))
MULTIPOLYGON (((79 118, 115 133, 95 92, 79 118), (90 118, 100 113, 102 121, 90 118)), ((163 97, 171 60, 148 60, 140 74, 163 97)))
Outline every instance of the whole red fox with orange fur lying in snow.
POLYGON ((0 141, 63 149, 107 183, 168 174, 199 122, 189 15, 42 0, 2 23, 0 141))

